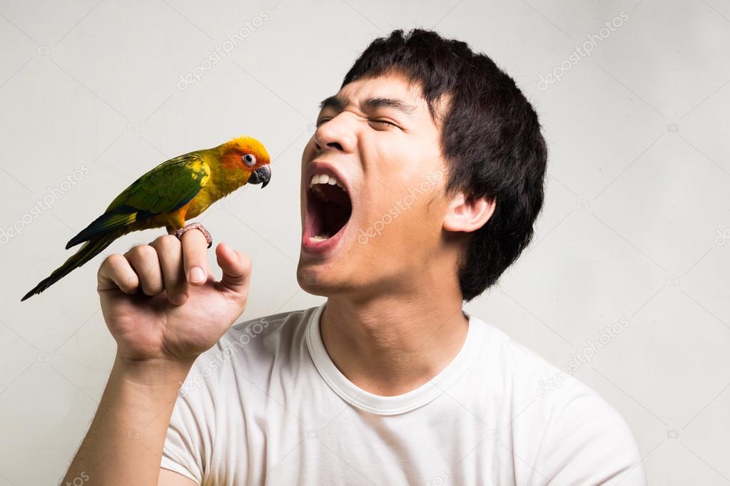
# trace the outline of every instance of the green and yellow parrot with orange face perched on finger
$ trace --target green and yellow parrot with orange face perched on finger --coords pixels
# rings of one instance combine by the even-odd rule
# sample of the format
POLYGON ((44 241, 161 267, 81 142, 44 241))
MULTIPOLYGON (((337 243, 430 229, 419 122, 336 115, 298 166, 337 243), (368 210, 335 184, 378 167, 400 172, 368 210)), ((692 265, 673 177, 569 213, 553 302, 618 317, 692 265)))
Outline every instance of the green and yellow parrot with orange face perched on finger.
POLYGON ((169 234, 181 238, 186 231, 197 229, 210 248, 210 232, 200 223, 185 226, 185 221, 245 184, 266 187, 271 179, 270 162, 264 145, 250 136, 162 162, 124 189, 104 214, 69 240, 66 249, 84 244, 20 301, 45 291, 128 232, 166 227, 169 234))

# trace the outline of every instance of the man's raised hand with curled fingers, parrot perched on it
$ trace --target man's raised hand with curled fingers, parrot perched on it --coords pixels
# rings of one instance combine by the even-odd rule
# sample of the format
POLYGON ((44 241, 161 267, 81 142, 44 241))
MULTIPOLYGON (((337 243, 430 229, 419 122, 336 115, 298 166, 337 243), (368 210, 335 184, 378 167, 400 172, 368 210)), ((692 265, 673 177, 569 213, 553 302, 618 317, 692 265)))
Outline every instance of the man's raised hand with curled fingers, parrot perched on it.
POLYGON ((101 312, 128 363, 192 363, 218 342, 246 306, 250 259, 220 243, 215 281, 207 241, 188 231, 113 254, 99 267, 101 312))

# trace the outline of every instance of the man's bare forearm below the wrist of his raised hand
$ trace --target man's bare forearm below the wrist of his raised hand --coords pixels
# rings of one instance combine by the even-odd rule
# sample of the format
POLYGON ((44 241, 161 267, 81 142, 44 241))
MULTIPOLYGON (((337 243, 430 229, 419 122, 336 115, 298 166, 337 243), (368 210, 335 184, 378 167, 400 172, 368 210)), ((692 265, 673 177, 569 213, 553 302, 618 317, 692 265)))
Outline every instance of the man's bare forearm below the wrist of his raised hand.
POLYGON ((180 383, 191 363, 130 364, 117 356, 91 427, 61 484, 157 485, 180 383))

